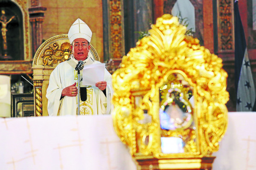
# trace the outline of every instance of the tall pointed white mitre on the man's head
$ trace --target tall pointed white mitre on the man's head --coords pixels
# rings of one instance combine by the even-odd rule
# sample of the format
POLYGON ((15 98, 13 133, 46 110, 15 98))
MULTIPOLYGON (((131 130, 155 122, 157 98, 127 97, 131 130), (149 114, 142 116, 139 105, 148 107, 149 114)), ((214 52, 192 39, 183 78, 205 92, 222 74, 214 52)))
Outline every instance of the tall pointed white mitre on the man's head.
POLYGON ((77 38, 84 38, 90 42, 92 35, 93 33, 87 24, 79 18, 72 24, 67 34, 70 44, 72 44, 72 42, 77 38))

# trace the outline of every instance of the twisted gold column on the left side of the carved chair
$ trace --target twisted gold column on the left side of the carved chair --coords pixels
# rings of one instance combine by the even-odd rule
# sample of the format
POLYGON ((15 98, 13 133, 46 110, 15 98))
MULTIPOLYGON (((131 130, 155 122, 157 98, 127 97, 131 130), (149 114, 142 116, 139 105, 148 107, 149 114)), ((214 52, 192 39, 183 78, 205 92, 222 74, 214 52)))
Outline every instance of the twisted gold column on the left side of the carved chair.
POLYGON ((35 88, 35 116, 43 116, 42 111, 42 80, 34 81, 34 88, 35 88))

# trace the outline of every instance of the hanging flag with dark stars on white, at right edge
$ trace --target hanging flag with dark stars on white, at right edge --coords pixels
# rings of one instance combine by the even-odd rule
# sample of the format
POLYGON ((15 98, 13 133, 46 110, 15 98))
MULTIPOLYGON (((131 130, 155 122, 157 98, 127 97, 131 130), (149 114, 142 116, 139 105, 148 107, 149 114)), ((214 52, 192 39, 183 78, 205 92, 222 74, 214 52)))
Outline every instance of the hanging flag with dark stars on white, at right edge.
POLYGON ((255 87, 247 53, 244 29, 239 14, 238 0, 235 0, 234 3, 234 14, 236 111, 253 111, 256 99, 255 87))

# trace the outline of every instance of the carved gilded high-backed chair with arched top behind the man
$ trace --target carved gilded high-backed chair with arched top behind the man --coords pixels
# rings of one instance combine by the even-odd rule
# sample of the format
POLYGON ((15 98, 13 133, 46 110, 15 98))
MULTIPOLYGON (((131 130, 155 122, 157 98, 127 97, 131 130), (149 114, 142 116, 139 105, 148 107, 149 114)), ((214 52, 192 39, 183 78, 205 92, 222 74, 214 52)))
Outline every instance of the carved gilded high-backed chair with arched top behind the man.
MULTIPOLYGON (((91 45, 89 57, 99 61, 99 55, 91 45)), ((54 68, 69 59, 72 53, 67 34, 57 35, 46 40, 35 53, 32 71, 34 81, 34 112, 35 116, 48 116, 46 90, 49 77, 54 68)))

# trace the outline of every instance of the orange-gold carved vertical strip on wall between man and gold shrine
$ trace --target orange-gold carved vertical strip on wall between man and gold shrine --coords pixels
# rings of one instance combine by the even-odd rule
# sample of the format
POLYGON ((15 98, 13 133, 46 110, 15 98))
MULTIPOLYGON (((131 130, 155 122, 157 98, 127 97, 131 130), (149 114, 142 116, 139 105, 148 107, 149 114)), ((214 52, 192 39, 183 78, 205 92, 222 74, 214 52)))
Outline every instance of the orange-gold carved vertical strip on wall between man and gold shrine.
POLYGON ((113 58, 124 54, 122 0, 110 0, 110 53, 113 58))

